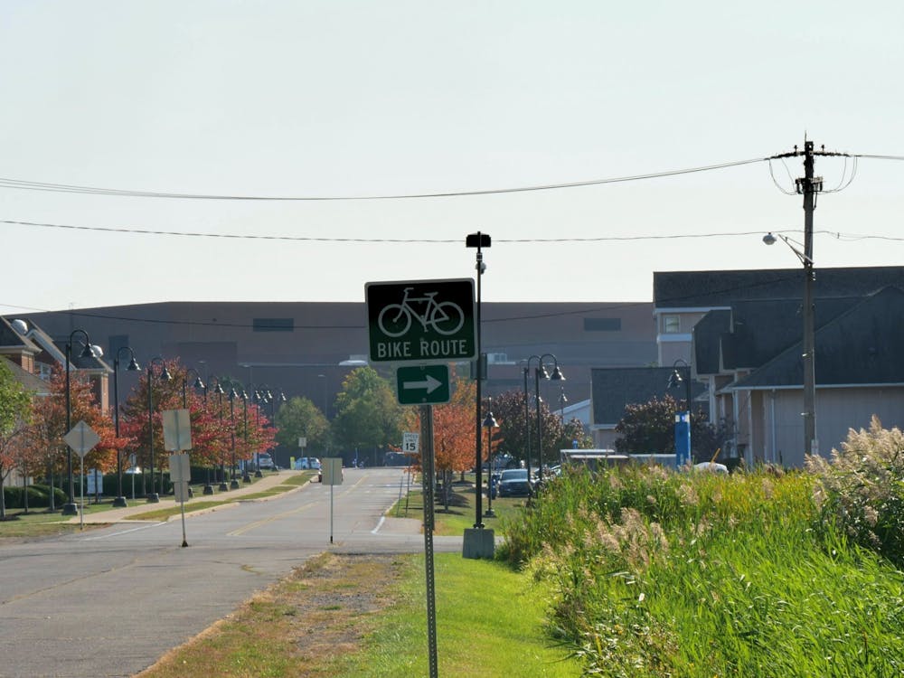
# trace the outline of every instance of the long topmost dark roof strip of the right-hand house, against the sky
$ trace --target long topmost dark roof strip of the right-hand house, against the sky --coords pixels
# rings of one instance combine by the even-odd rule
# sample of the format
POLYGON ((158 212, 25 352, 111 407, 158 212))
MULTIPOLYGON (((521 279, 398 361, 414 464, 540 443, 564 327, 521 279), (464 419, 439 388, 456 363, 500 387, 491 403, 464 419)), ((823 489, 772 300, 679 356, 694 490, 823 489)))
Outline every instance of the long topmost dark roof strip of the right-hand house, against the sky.
MULTIPOLYGON (((816 268, 815 297, 865 297, 890 285, 904 288, 904 267, 816 268)), ((712 308, 749 299, 799 299, 804 268, 657 271, 656 308, 712 308)))

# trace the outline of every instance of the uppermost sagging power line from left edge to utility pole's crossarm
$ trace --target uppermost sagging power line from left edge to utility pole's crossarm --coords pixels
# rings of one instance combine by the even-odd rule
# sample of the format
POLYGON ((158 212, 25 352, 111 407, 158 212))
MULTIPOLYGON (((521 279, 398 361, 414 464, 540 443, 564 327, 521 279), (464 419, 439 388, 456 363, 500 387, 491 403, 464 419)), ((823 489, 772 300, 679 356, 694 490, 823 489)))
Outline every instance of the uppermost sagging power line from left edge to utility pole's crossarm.
POLYGON ((564 188, 578 188, 580 186, 598 186, 603 184, 622 184, 625 182, 644 181, 646 179, 660 179, 680 174, 695 174, 699 172, 711 172, 713 170, 738 167, 740 165, 752 165, 761 163, 767 158, 751 158, 749 160, 735 160, 716 165, 702 165, 699 167, 687 167, 664 172, 648 174, 632 174, 629 176, 609 177, 606 179, 590 179, 589 181, 566 182, 561 184, 536 184, 532 186, 515 186, 511 188, 491 188, 474 191, 446 191, 439 193, 396 193, 389 195, 218 195, 212 193, 167 193, 157 191, 135 191, 129 189, 104 188, 99 186, 81 186, 78 184, 51 184, 48 182, 33 182, 24 179, 0 177, 0 188, 11 188, 22 191, 48 191, 52 193, 88 193, 92 195, 123 196, 129 198, 172 198, 178 200, 221 200, 221 201, 253 201, 253 202, 341 202, 341 201, 365 201, 365 200, 418 200, 424 198, 459 198, 474 195, 499 195, 504 193, 532 193, 536 191, 557 191, 564 188))

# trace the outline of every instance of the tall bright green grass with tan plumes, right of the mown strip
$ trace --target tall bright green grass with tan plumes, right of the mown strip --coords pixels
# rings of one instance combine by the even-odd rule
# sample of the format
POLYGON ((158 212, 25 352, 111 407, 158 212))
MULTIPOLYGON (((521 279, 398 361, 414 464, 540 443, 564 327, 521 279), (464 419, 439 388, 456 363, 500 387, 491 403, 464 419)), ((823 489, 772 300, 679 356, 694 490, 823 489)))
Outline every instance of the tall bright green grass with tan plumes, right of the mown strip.
POLYGON ((807 473, 573 470, 501 551, 585 675, 902 675, 901 573, 824 520, 823 491, 807 473))

